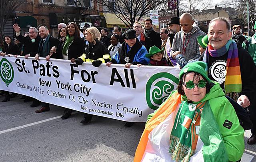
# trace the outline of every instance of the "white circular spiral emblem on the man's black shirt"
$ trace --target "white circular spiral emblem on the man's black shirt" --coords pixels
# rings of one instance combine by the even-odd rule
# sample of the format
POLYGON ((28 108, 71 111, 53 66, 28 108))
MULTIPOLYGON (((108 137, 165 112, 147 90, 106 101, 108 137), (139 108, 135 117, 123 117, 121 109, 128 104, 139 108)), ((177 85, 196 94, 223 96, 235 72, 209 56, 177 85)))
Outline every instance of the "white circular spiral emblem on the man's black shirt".
POLYGON ((226 62, 216 62, 211 67, 212 78, 219 84, 222 84, 226 78, 226 62))

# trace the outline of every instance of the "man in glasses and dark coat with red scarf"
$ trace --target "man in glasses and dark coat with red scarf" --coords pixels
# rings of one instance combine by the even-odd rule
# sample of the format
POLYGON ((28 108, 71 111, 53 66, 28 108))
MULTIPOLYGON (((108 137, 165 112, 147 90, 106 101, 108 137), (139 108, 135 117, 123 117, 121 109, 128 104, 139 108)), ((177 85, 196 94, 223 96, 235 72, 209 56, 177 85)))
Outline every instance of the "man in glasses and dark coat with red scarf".
POLYGON ((147 51, 149 52, 149 48, 152 45, 152 41, 149 37, 144 36, 142 33, 142 25, 140 22, 134 22, 132 28, 136 31, 136 37, 140 42, 146 47, 147 51))

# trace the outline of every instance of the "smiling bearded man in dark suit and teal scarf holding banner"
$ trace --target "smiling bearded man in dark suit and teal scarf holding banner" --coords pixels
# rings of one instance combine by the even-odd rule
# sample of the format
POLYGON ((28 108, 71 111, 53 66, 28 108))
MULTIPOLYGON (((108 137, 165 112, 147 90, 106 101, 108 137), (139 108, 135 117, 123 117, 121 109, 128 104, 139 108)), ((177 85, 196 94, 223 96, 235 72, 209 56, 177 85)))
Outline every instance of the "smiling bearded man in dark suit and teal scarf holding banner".
MULTIPOLYGON (((39 43, 39 52, 38 54, 36 54, 35 59, 39 60, 39 57, 45 57, 46 60, 50 60, 50 49, 53 46, 58 46, 58 44, 60 43, 59 40, 57 40, 56 38, 53 38, 50 34, 49 34, 49 29, 47 26, 40 26, 39 27, 39 35, 42 38, 42 40, 39 43)), ((52 55, 55 56, 55 58, 60 58, 61 56, 58 56, 57 54, 52 55)), ((39 110, 36 110, 36 113, 40 113, 40 112, 44 112, 44 111, 49 111, 50 110, 50 106, 48 103, 42 103, 42 107, 39 110)))

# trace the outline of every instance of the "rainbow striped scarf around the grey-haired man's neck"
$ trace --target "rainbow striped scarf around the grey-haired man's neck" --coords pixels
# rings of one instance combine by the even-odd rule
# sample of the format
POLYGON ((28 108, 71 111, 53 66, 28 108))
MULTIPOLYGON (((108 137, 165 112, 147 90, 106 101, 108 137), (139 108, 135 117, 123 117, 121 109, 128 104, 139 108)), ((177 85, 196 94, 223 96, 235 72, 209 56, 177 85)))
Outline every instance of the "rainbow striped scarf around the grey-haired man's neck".
MULTIPOLYGON (((228 60, 224 88, 225 93, 228 95, 228 93, 239 93, 242 91, 242 79, 236 42, 234 40, 228 40, 225 46, 217 50, 214 50, 212 45, 209 43, 206 51, 204 52, 203 61, 206 62, 206 65, 208 66, 209 54, 212 57, 220 57, 226 54, 226 52, 228 52, 228 60)), ((208 70, 207 66, 206 70, 208 70)), ((236 96, 239 96, 239 94, 236 96)), ((233 99, 235 100, 236 98, 237 97, 233 99)))

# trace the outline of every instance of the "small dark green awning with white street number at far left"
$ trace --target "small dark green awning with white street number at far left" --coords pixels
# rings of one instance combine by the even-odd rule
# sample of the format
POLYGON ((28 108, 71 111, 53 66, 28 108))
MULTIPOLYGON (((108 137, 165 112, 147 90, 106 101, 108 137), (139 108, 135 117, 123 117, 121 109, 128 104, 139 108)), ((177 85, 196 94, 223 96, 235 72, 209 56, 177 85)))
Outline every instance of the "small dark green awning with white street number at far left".
POLYGON ((15 23, 20 26, 20 28, 30 28, 37 27, 37 20, 32 16, 21 16, 15 19, 15 23))

